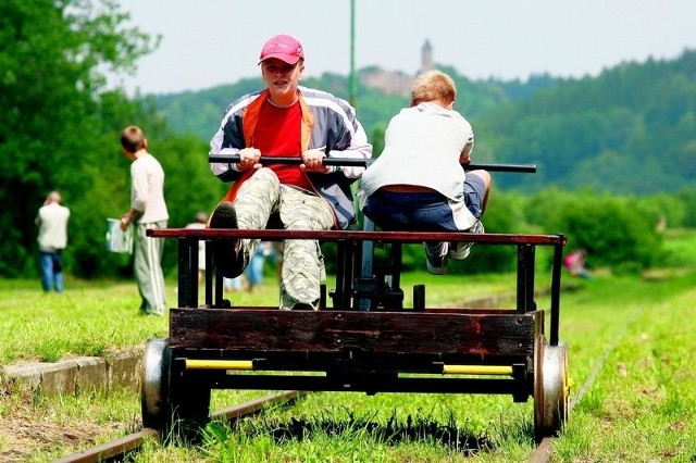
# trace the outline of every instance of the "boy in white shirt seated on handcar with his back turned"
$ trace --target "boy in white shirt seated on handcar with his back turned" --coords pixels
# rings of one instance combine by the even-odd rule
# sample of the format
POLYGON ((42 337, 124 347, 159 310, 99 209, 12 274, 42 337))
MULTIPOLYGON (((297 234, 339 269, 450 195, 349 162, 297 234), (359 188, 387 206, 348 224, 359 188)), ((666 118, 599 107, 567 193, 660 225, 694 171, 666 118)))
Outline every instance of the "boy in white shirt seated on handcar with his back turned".
MULTIPOLYGON (((411 105, 391 118, 385 148, 362 175, 364 215, 383 230, 484 233, 490 174, 464 172, 474 134, 457 111, 455 82, 440 71, 419 75, 411 105)), ((447 272, 447 259, 469 255, 471 242, 424 242, 427 270, 447 272)))

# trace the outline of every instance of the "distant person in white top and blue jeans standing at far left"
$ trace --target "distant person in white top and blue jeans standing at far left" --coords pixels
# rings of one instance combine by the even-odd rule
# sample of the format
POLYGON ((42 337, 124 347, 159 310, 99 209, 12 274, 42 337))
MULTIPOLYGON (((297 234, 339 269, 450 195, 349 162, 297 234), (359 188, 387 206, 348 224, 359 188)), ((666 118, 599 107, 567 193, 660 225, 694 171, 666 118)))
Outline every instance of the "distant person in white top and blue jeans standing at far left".
POLYGON ((39 227, 39 262, 45 292, 63 292, 63 250, 67 247, 70 209, 61 204, 61 195, 51 191, 39 209, 35 223, 39 227))

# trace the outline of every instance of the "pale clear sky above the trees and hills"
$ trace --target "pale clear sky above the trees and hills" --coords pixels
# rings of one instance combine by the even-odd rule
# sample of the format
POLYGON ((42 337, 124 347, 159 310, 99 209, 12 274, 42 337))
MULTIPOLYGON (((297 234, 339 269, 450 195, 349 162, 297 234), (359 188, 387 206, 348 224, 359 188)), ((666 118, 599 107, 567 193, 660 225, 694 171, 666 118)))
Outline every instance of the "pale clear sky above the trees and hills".
MULTIPOLYGON (((260 75, 276 34, 304 48, 308 77, 350 73, 351 0, 117 0, 128 26, 161 36, 130 93, 171 93, 260 75)), ((471 79, 596 76, 622 62, 696 49, 696 0, 353 0, 355 65, 415 75, 436 64, 471 79)))

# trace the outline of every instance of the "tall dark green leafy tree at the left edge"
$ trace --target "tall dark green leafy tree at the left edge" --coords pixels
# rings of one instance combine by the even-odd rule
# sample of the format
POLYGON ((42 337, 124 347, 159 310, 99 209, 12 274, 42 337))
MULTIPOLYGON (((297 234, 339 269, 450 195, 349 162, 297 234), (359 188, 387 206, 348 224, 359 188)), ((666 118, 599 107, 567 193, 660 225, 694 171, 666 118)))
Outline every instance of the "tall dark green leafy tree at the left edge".
POLYGON ((0 275, 34 271, 33 222, 52 189, 76 212, 70 242, 82 243, 99 226, 103 248, 103 220, 83 223, 83 199, 115 178, 103 162, 104 139, 109 147, 114 140, 109 112, 139 111, 120 92, 105 95, 104 73, 132 71, 154 46, 125 27, 127 18, 111 0, 0 3, 0 275))

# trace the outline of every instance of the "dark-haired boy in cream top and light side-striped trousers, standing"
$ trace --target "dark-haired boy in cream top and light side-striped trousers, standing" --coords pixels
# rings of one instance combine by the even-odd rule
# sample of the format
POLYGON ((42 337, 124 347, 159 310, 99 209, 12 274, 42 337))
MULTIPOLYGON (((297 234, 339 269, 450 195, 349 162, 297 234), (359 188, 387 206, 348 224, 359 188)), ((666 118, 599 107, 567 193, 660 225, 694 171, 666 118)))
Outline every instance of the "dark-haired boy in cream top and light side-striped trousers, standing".
POLYGON ((164 240, 147 236, 150 228, 166 228, 170 218, 164 202, 164 171, 148 152, 148 140, 135 125, 121 133, 123 153, 130 164, 130 210, 121 217, 121 229, 136 224, 134 273, 142 301, 140 313, 164 315, 164 275, 162 250, 164 240))

